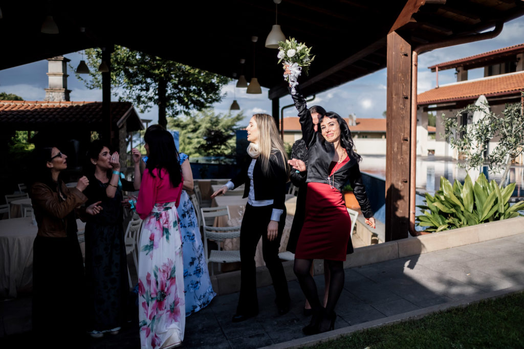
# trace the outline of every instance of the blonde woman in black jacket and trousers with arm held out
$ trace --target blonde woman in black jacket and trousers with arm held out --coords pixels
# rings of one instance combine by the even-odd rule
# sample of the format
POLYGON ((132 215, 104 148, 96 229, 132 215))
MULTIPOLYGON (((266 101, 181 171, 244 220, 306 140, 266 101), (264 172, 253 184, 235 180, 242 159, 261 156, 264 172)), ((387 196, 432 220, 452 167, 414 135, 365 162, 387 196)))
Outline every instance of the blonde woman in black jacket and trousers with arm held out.
POLYGON ((280 239, 286 222, 286 182, 289 166, 275 120, 267 114, 255 114, 247 126, 248 161, 242 171, 211 198, 245 184, 247 205, 240 237, 241 289, 233 322, 258 314, 255 251, 262 237, 264 262, 275 288, 278 313, 289 311, 289 291, 282 263, 278 258, 280 239))

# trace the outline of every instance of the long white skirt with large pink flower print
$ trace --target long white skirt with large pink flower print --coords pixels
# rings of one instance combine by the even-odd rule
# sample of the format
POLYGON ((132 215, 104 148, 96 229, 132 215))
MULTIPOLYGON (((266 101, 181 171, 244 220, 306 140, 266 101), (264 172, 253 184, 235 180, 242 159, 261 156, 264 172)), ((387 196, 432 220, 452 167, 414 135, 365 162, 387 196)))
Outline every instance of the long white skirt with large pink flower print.
POLYGON ((156 204, 142 224, 138 303, 142 348, 160 348, 183 340, 182 241, 174 202, 156 204))

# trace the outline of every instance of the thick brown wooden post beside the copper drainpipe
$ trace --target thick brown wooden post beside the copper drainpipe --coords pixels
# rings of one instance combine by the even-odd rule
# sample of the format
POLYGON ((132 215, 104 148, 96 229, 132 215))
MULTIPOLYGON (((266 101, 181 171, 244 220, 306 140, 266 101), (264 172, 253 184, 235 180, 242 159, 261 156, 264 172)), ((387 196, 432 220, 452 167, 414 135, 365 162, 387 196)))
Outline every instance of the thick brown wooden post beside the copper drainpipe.
POLYGON ((411 45, 387 37, 386 241, 408 237, 411 117, 411 45))

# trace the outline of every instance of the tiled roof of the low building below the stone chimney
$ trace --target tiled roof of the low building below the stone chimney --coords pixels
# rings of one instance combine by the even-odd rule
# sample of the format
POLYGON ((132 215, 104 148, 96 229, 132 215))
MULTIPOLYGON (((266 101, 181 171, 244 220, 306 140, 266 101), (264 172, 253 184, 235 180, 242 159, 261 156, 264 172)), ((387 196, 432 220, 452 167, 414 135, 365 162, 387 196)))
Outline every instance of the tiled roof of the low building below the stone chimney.
MULTIPOLYGON (((118 127, 132 116, 134 130, 144 128, 130 102, 111 102, 111 115, 118 127)), ((0 125, 20 130, 39 130, 53 125, 96 130, 103 125, 102 102, 0 100, 0 125)))

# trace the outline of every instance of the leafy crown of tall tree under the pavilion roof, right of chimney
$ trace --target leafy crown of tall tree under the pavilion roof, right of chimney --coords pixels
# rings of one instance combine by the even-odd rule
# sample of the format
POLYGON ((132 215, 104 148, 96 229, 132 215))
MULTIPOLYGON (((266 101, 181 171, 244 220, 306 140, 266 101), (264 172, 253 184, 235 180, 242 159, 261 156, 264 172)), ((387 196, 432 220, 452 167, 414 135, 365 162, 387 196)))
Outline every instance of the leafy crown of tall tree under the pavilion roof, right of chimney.
MULTIPOLYGON (((98 66, 101 49, 85 50, 90 80, 82 80, 90 89, 102 87, 98 66)), ((194 67, 162 59, 143 52, 115 46, 111 53, 111 86, 119 100, 128 100, 140 110, 158 105, 158 123, 167 126, 167 116, 202 110, 222 100, 221 88, 229 78, 194 67)))

